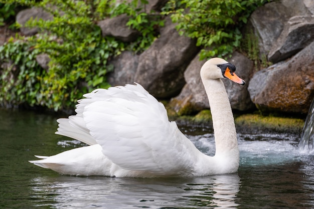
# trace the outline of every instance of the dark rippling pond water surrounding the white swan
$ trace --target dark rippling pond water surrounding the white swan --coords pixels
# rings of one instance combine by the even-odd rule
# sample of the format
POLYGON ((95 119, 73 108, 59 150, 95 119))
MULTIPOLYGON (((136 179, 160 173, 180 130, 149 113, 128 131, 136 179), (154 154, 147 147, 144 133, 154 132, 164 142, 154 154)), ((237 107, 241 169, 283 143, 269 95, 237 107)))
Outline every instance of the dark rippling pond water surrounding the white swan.
MULTIPOLYGON (((58 116, 0 109, 0 208, 314 208, 314 156, 288 134, 239 133, 238 173, 194 178, 77 177, 33 155, 82 146, 54 134, 58 116)), ((211 130, 182 128, 213 154, 211 130)))

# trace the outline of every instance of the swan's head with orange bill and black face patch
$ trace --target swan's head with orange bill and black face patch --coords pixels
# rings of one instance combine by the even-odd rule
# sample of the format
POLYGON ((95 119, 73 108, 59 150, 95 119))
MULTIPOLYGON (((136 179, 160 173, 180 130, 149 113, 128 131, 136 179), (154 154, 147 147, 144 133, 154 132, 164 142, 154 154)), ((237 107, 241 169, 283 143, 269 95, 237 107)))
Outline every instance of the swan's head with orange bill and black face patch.
POLYGON ((245 81, 239 78, 235 73, 235 66, 221 58, 212 58, 208 60, 201 68, 202 79, 228 78, 231 81, 244 85, 245 81))

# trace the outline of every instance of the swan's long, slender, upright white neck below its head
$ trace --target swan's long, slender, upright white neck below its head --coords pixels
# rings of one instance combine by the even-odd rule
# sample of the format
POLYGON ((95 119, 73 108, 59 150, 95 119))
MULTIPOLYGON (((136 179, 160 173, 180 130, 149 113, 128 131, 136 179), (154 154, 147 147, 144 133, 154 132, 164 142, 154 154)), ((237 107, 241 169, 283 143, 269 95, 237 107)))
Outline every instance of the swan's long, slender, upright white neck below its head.
MULTIPOLYGON (((203 80, 213 118, 216 156, 238 155, 237 133, 231 105, 221 79, 203 80)), ((238 156, 230 156, 238 157, 238 156)))

